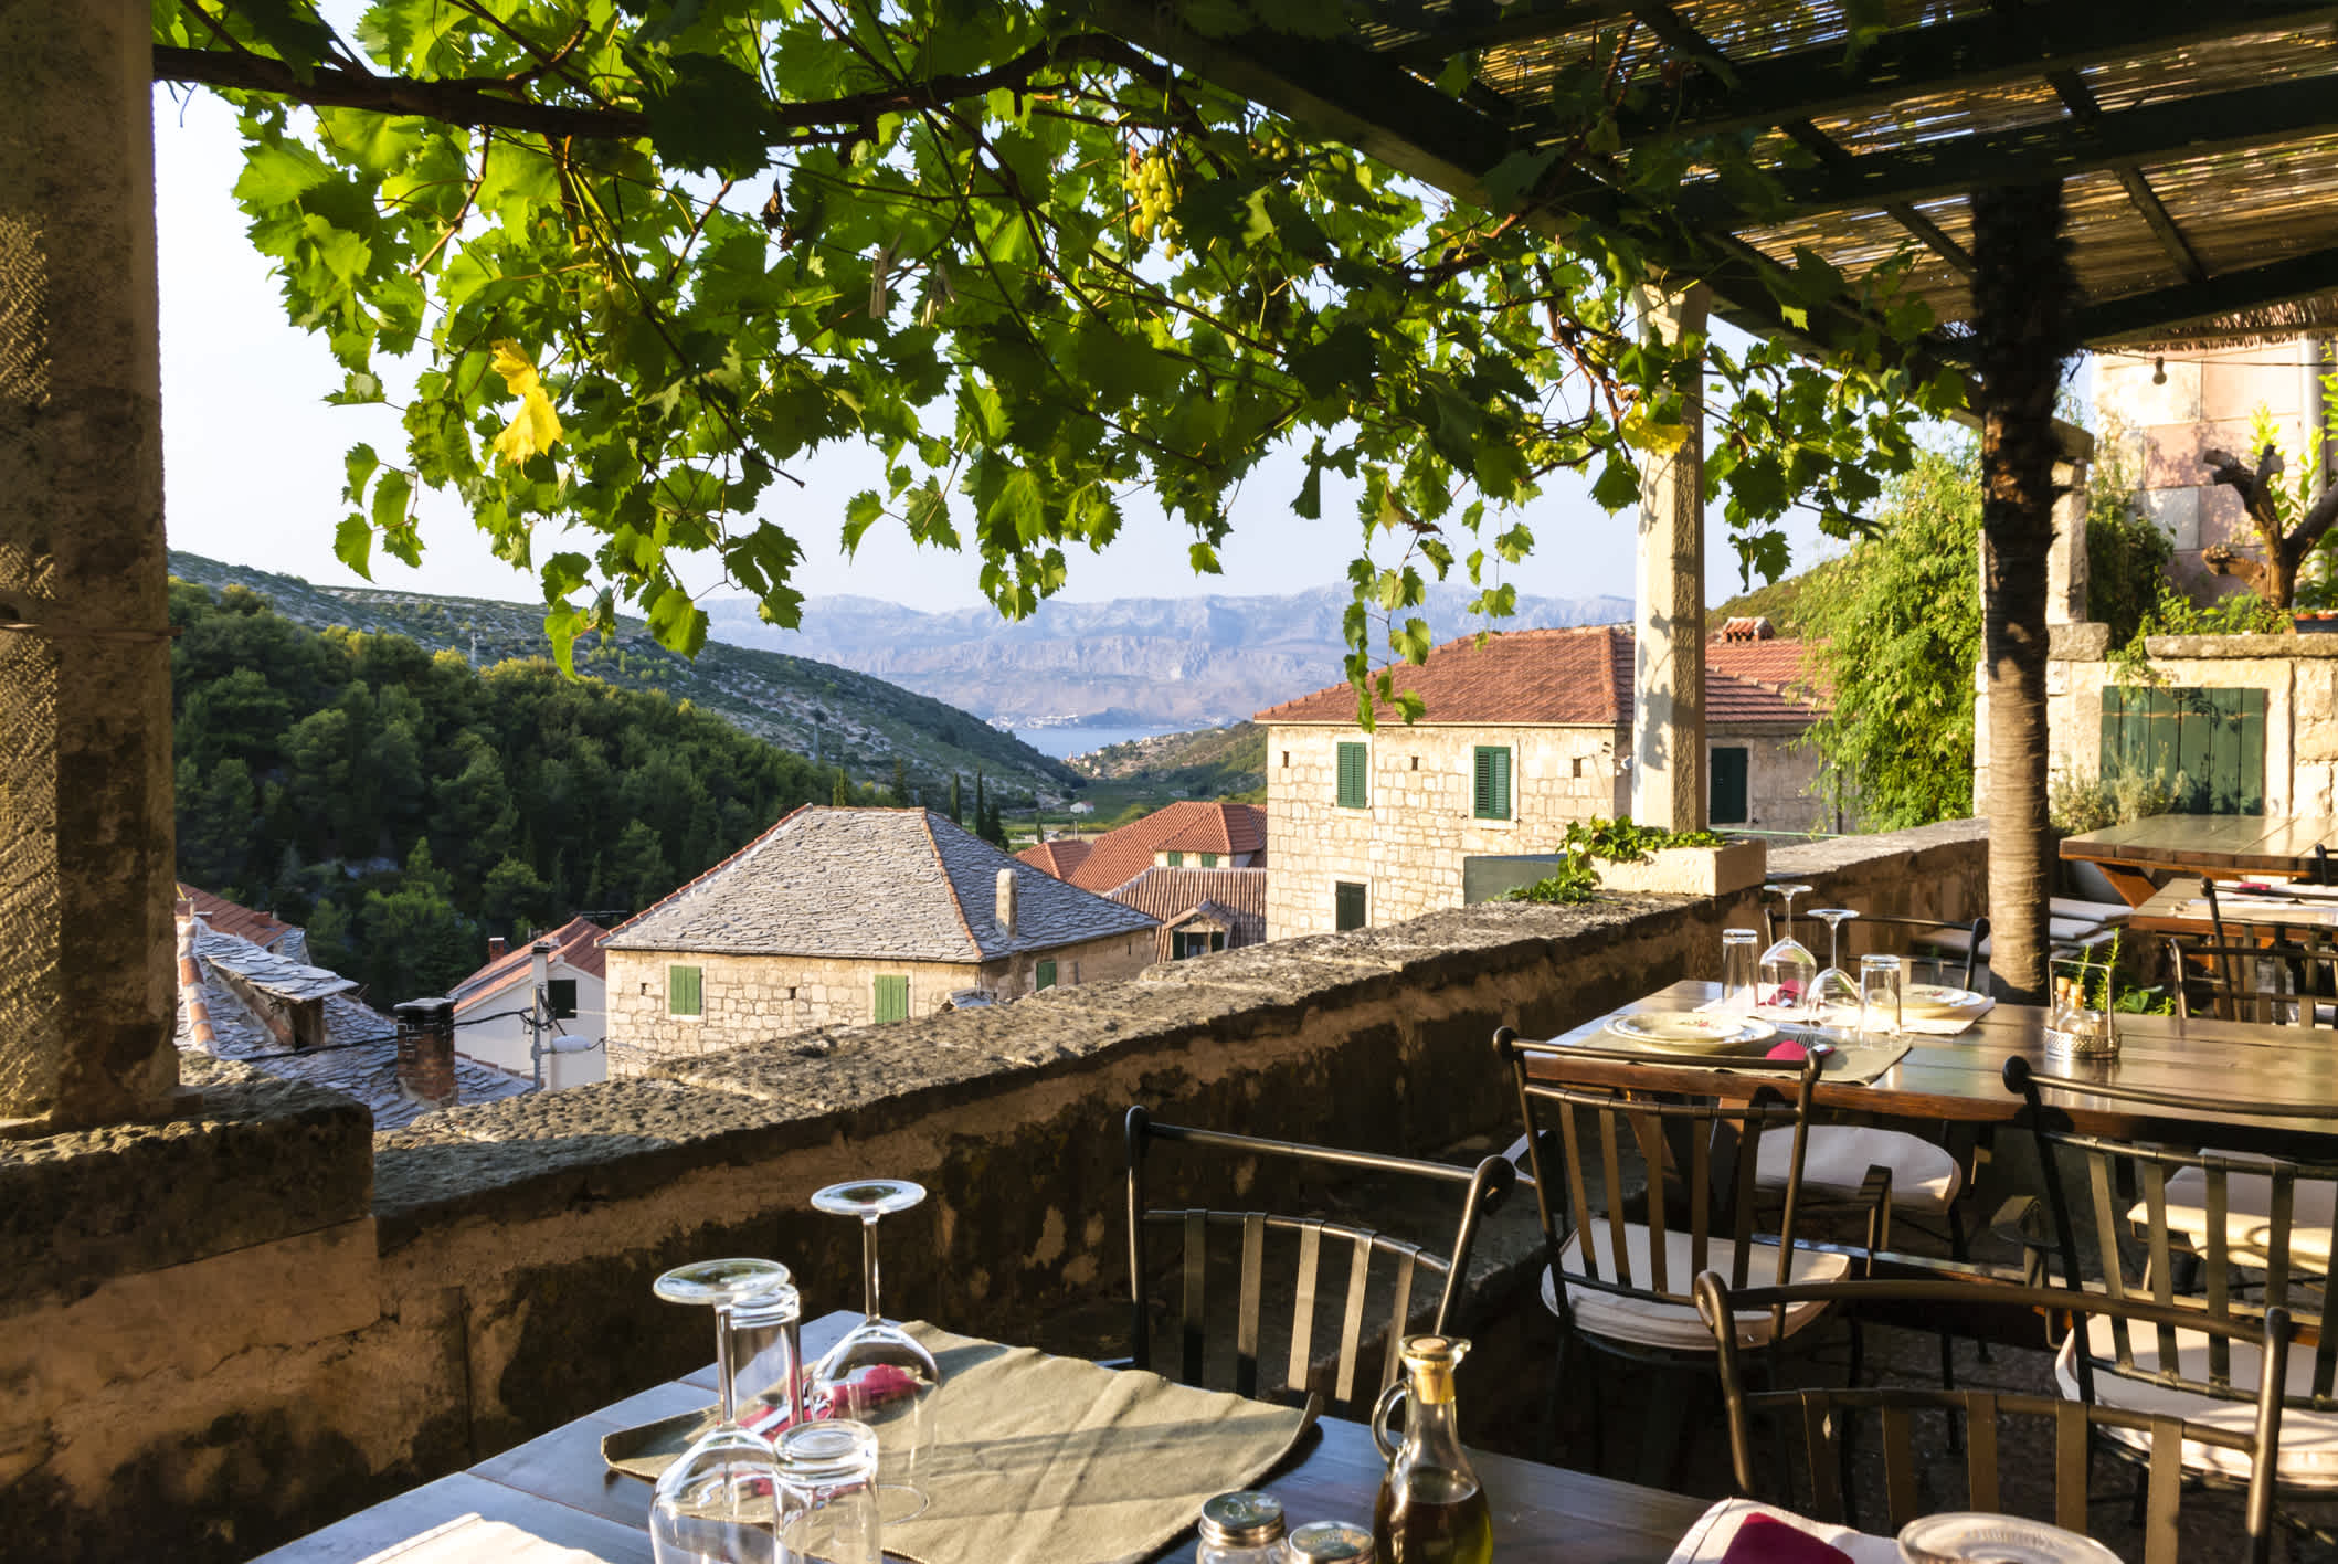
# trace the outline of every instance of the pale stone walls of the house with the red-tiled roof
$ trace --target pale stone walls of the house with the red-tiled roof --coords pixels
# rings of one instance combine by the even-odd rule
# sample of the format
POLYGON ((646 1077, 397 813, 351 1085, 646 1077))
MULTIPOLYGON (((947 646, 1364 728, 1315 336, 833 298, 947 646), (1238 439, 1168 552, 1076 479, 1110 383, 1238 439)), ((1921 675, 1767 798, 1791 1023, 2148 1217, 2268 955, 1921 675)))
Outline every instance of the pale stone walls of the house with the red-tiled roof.
MULTIPOLYGON (((1714 727, 1709 748, 1744 748, 1744 825, 1831 828, 1814 797, 1819 757, 1789 734, 1714 727)), ((1632 809, 1632 736, 1623 727, 1354 727, 1267 729, 1267 937, 1330 933, 1335 886, 1365 888, 1365 923, 1398 923, 1461 905, 1461 860, 1557 851, 1571 821, 1632 809), (1365 809, 1340 807, 1340 743, 1370 757, 1365 809), (1510 748, 1510 816, 1473 814, 1475 748, 1510 748)))

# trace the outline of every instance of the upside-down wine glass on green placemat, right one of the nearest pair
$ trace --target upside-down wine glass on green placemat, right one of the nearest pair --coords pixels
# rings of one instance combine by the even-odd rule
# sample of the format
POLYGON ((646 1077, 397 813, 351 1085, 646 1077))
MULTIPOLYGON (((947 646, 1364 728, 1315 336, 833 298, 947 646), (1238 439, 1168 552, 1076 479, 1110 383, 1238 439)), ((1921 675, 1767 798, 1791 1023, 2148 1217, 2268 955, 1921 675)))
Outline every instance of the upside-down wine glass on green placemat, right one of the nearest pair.
POLYGON ((860 1276, 867 1319, 844 1333, 811 1370, 818 1417, 867 1424, 884 1435, 900 1428, 879 1456, 877 1499, 884 1520, 909 1520, 926 1508, 916 1466, 933 1438, 928 1403, 942 1384, 933 1354, 877 1312, 877 1218, 907 1211, 926 1199, 926 1188, 907 1178, 856 1178, 832 1183, 811 1197, 814 1211, 860 1218, 860 1276))

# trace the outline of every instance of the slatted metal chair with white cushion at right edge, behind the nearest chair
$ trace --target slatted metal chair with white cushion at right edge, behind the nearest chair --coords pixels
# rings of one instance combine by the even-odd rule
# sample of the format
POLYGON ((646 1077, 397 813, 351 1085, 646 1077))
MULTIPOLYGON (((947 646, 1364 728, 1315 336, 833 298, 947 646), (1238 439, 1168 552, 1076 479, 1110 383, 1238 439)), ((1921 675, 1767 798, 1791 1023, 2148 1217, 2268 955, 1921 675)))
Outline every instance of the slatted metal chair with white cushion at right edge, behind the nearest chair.
MULTIPOLYGON (((2181 1307, 2186 1328, 2165 1323, 2144 1335, 2104 1314, 2074 1330, 2055 1361, 2062 1393, 2088 1405, 2125 1407, 2193 1421, 2228 1421, 2230 1405, 2254 1379, 2254 1363, 2228 1347, 2226 1326, 2261 1328, 2287 1312, 2301 1281, 2317 1281, 2319 1326, 2312 1354, 2291 1358, 2282 1379, 2287 1438, 2280 1442, 2280 1489, 2338 1496, 2338 1288, 2329 1286, 2338 1248, 2338 1164, 2308 1164, 2259 1153, 2177 1150, 2074 1132, 2046 1106, 2043 1092, 2153 1106, 2170 1113, 2230 1103, 2146 1092, 2093 1078, 2048 1075, 2008 1059, 2006 1089, 2025 1108, 2036 1141, 2050 1211, 2050 1244, 2062 1286, 2085 1297, 2181 1307), (2064 1176, 2078 1174, 2085 1211, 2071 1211, 2064 1176), (2088 1265, 2093 1251, 2093 1265, 2088 1265), (2251 1293, 2256 1302, 2251 1302, 2251 1293)), ((2268 1108, 2266 1117, 2338 1120, 2338 1106, 2268 1108)), ((2151 1459, 2142 1440, 2111 1433, 2130 1459, 2151 1459)), ((2230 1482, 2214 1452, 2186 1447, 2186 1468, 2230 1482)))

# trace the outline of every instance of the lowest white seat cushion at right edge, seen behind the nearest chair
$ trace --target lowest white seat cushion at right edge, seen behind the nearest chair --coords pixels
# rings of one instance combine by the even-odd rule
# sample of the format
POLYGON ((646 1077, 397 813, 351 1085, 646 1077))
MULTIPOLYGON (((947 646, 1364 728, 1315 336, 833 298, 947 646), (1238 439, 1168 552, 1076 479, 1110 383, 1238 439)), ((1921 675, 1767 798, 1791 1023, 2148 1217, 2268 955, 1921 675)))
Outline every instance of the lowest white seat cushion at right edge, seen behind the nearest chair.
MULTIPOLYGON (((2193 1391, 2177 1391, 2165 1384, 2144 1384, 2142 1379, 2114 1375, 2102 1368, 2104 1361, 2116 1356, 2111 1321, 2102 1316, 2090 1319, 2085 1323, 2085 1337, 2093 1356, 2097 1358, 2097 1403, 2107 1407, 2123 1407, 2128 1412, 2181 1417, 2188 1424, 2228 1428, 2233 1433, 2249 1433, 2256 1428, 2254 1396, 2251 1400, 2219 1400, 2216 1396, 2195 1396, 2193 1391)), ((2137 1370, 2158 1370, 2160 1333, 2153 1326, 2137 1326, 2130 1321, 2128 1347, 2135 1351, 2137 1370)), ((2256 1347, 2233 1342, 2233 1386, 2254 1393, 2256 1375, 2263 1372, 2259 1363, 2261 1358, 2256 1347)), ((2207 1382, 2207 1335, 2200 1330, 2177 1330, 2177 1372, 2186 1379, 2207 1382)), ((2062 1396, 2069 1400, 2078 1398, 2076 1333, 2062 1342, 2062 1351, 2053 1361, 2053 1377, 2055 1384, 2062 1386, 2062 1396)), ((2315 1393, 2315 1354, 2310 1347, 2291 1344, 2289 1349, 2289 1393, 2315 1393)), ((2130 1449, 2151 1449, 2151 1435, 2142 1428, 2104 1428, 2104 1433, 2130 1449)), ((2249 1456, 2221 1445, 2184 1440, 2184 1466, 2186 1470, 2219 1473, 2240 1482, 2249 1480, 2249 1456)), ((2338 1489, 2338 1412, 2282 1407, 2282 1456, 2275 1473, 2284 1487, 2338 1489)))

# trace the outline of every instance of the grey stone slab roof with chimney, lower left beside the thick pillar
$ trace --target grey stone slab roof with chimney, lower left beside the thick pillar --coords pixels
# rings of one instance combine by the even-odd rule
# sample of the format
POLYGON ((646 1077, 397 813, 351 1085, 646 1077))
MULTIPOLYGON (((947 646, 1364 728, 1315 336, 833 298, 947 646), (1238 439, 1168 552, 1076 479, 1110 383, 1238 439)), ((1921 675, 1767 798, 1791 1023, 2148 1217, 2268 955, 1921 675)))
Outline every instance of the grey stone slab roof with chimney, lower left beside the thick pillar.
MULTIPOLYGON (((374 1132, 402 1129, 423 1113, 433 1110, 430 1103, 414 1101, 397 1092, 397 1024, 379 1010, 348 998, 346 989, 355 989, 358 984, 334 973, 325 973, 325 977, 341 984, 341 989, 332 989, 323 996, 325 1045, 292 1052, 278 1043, 276 1033, 271 1033, 243 1005, 243 1001, 236 998, 236 991, 217 977, 220 970, 231 970, 227 963, 257 966, 255 956, 271 961, 274 956, 250 940, 203 928, 201 921, 196 923, 194 954, 201 977, 199 998, 210 1017, 213 1043, 206 1050, 194 1040, 189 1001, 196 996, 180 989, 178 1045, 182 1052, 206 1052, 215 1059, 236 1059, 267 1071, 278 1080, 304 1080, 309 1085, 339 1092, 341 1096, 353 1096, 372 1110, 374 1132)), ((320 973, 323 968, 306 970, 320 973)), ((461 1050, 461 1045, 463 1033, 458 1031, 456 1047, 461 1050)), ((517 1096, 531 1087, 528 1080, 521 1080, 510 1071, 498 1071, 491 1064, 468 1059, 461 1052, 454 1061, 454 1080, 458 1103, 484 1103, 503 1096, 517 1096)))

